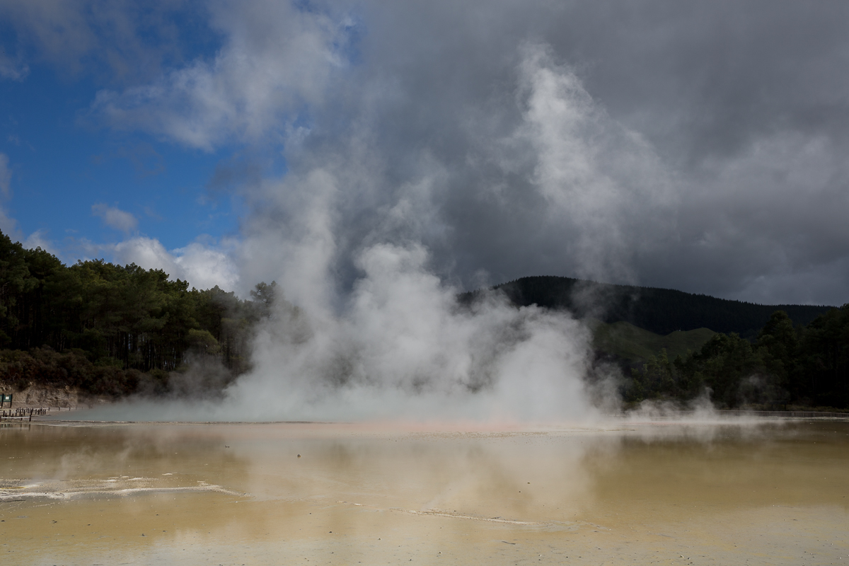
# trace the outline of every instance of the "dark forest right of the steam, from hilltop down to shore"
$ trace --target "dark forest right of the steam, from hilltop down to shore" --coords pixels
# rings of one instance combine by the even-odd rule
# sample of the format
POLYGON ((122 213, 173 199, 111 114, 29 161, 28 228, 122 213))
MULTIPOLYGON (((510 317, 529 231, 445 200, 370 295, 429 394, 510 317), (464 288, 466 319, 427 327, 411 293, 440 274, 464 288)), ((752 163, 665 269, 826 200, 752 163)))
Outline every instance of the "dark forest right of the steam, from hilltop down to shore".
MULTIPOLYGON (((659 334, 656 339, 679 330, 716 332, 700 349, 672 360, 660 350, 636 367, 633 357, 621 355, 616 339, 597 336, 597 359, 621 367, 620 392, 628 405, 680 403, 709 389, 711 401, 726 408, 849 408, 849 305, 756 305, 570 277, 522 277, 492 289, 516 306, 567 310, 608 324, 628 322, 659 334)), ((461 300, 470 303, 483 293, 466 293, 461 300)))

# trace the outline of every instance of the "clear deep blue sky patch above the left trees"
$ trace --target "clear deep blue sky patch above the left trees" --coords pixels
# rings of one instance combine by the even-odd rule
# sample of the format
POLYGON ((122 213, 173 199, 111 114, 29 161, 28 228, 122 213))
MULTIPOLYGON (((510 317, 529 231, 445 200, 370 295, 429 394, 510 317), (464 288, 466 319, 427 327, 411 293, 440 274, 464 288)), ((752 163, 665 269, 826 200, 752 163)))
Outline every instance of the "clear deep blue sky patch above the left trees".
POLYGON ((86 255, 81 240, 142 234, 173 249, 200 235, 238 233, 238 199, 209 190, 216 165, 233 148, 192 149, 144 132, 116 132, 91 109, 104 88, 98 73, 28 67, 22 80, 0 82, 0 151, 12 171, 6 208, 22 235, 40 233, 72 261, 86 255), (94 215, 98 204, 126 211, 137 226, 110 227, 94 215))

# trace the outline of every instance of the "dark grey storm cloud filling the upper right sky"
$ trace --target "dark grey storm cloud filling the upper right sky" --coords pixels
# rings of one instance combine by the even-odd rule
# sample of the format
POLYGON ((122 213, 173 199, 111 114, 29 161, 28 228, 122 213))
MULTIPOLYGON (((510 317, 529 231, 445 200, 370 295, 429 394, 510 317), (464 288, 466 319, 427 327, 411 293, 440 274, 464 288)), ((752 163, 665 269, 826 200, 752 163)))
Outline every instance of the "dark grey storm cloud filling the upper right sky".
MULTIPOLYGON (((430 198, 442 226, 422 238, 444 277, 468 287, 480 270, 492 282, 554 273, 764 302, 847 300, 845 4, 421 3, 363 20, 364 69, 324 116, 368 124, 378 202, 438 164, 430 198), (516 139, 528 43, 591 98, 592 117, 571 134, 596 177, 621 166, 614 196, 589 207, 609 232, 576 221, 586 204, 552 214, 536 175, 544 149, 516 139), (645 153, 623 147, 634 135, 645 153), (656 162, 629 163, 637 155, 656 162), (668 190, 650 195, 652 183, 668 190), (597 245, 576 252, 582 236, 597 245)), ((317 155, 335 147, 322 124, 306 141, 317 155)), ((595 194, 596 177, 559 182, 595 194)))

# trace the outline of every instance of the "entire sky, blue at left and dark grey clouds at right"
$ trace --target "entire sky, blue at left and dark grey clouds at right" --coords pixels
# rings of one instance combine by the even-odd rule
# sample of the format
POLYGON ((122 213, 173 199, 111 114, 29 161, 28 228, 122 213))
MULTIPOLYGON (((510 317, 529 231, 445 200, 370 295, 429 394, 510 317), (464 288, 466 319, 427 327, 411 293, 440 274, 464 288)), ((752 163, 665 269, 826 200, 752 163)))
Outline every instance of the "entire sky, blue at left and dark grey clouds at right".
POLYGON ((849 4, 0 0, 0 229, 344 294, 849 301, 849 4))

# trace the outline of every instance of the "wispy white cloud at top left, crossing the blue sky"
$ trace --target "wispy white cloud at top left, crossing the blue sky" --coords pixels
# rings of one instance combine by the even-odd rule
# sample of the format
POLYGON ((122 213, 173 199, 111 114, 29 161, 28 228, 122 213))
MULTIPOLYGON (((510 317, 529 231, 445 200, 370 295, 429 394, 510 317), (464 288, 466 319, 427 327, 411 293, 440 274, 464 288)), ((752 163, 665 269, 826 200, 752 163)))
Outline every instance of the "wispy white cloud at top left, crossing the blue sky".
MULTIPOLYGON (((289 2, 235 3, 214 10, 224 47, 152 84, 101 91, 96 114, 112 126, 162 134, 211 150, 219 143, 281 135, 305 104, 323 97, 345 21, 289 2)), ((344 38, 343 38, 344 39, 344 38)))

